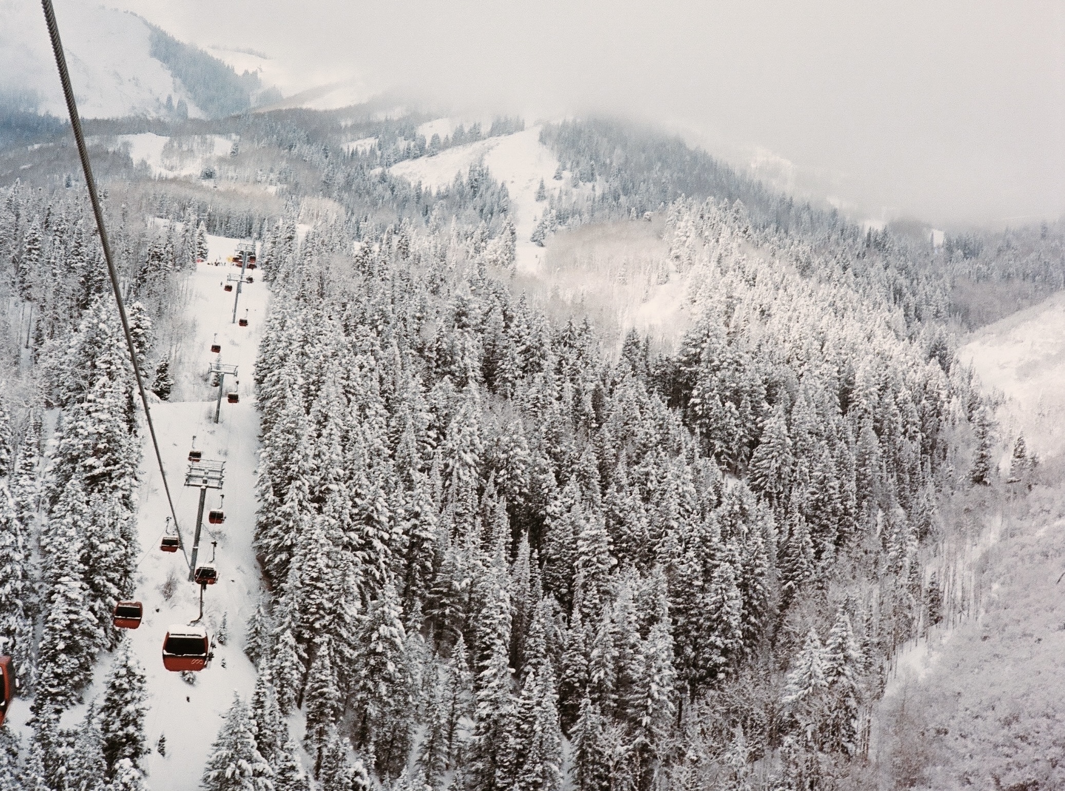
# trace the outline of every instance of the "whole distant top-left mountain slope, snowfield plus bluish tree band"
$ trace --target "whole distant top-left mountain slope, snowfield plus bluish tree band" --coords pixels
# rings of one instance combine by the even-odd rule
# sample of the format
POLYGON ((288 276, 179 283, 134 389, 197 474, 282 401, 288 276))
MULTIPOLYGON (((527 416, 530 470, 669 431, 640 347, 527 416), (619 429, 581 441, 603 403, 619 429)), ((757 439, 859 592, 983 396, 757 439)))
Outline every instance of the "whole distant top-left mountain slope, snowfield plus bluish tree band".
MULTIPOLYGON (((243 76, 144 19, 86 0, 55 13, 82 115, 214 117, 250 105, 259 78, 243 76)), ((0 0, 0 105, 63 116, 66 108, 40 7, 0 0)))

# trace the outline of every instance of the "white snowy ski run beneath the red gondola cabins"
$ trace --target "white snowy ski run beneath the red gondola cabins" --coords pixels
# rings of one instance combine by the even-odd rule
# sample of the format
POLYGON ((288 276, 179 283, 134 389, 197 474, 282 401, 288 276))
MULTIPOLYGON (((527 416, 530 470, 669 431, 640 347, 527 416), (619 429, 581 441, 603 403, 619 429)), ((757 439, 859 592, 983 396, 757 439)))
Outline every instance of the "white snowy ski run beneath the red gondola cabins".
MULTIPOLYGON (((158 401, 151 407, 159 438, 167 482, 174 497, 184 545, 190 553, 196 527, 199 489, 185 488, 189 450, 193 435, 204 460, 225 462, 225 523, 211 525, 207 511, 217 508, 219 491, 208 490, 199 561, 209 562, 212 541, 217 541, 216 566, 218 582, 203 593, 203 621, 214 642, 214 659, 207 670, 195 675, 195 683, 182 679, 182 674, 163 668, 162 646, 170 625, 184 625, 199 612, 199 587, 189 581, 189 566, 178 551, 163 553, 159 548, 169 507, 160 479, 147 426, 142 421, 141 492, 137 502, 137 528, 141 558, 137 565, 137 587, 134 598, 144 604, 144 621, 140 628, 126 630, 147 676, 148 713, 145 731, 151 748, 145 758, 147 785, 151 791, 189 791, 198 788, 211 744, 217 736, 233 693, 249 701, 255 688, 256 669, 244 655, 245 626, 257 605, 260 590, 258 564, 252 549, 257 499, 255 469, 259 450, 259 413, 256 409, 251 379, 252 366, 262 334, 269 292, 262 281, 261 269, 248 274, 255 282, 245 284, 240 298, 237 316, 247 311, 248 326, 232 323, 233 296, 223 283, 227 275, 240 269, 225 262, 235 252, 241 240, 209 236, 209 262, 190 275, 189 300, 185 310, 194 320, 191 336, 185 340, 185 357, 197 373, 197 400, 158 401), (220 355, 210 347, 217 333, 220 355), (226 377, 225 391, 240 393, 239 403, 222 398, 219 422, 214 424, 216 388, 211 388, 208 368, 212 361, 236 365, 237 376, 226 377), (235 381, 234 381, 235 379, 235 381), (236 382, 240 382, 239 384, 236 382), (167 596, 167 589, 173 591, 167 596), (219 629, 225 620, 226 632, 219 642, 219 629), (166 736, 166 755, 155 751, 160 736, 166 736)), ((177 373, 177 372, 176 372, 177 373)), ((100 699, 113 657, 102 655, 97 661, 94 682, 83 694, 84 704, 64 712, 62 724, 80 724, 86 706, 100 699)), ((9 722, 20 732, 23 746, 33 738, 26 725, 30 716, 30 701, 19 701, 9 722)), ((293 718, 293 732, 302 727, 293 718)))

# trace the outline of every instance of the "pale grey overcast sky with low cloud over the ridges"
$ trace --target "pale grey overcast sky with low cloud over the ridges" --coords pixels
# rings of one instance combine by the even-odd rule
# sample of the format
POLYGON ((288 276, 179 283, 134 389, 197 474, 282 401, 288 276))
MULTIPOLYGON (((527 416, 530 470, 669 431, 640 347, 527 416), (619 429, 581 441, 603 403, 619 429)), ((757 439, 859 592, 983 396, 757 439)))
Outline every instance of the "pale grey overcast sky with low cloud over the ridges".
POLYGON ((761 149, 870 216, 1065 212, 1065 0, 110 0, 273 57, 530 119, 607 111, 761 149))

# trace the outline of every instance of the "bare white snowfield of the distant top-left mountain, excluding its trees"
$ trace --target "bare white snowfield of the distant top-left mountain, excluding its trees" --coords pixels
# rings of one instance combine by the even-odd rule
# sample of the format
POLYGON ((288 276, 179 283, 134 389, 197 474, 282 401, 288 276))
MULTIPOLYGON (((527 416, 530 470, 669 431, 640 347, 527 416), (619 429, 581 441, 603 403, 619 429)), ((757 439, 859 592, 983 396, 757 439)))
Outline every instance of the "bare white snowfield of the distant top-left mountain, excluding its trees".
MULTIPOLYGON (((59 0, 63 35, 78 109, 86 118, 161 115, 166 99, 181 99, 192 117, 202 115, 192 95, 150 54, 148 24, 92 0, 59 0)), ((63 90, 39 3, 0 0, 0 94, 29 92, 38 111, 66 115, 63 90)))

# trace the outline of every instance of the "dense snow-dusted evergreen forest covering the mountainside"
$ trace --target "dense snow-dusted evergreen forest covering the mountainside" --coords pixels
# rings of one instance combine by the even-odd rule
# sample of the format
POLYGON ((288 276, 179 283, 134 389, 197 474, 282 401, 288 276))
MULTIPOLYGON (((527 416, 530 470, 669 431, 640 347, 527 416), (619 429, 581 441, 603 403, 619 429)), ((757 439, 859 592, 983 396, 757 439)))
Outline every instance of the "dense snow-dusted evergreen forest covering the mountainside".
MULTIPOLYGON (((524 123, 433 143, 420 120, 174 128, 239 133, 217 178, 273 189, 253 195, 105 160, 159 398, 207 234, 260 238, 272 290, 263 593, 242 636, 258 683, 203 786, 862 787, 898 648, 969 600, 936 555, 954 500, 997 476, 994 403, 951 330, 988 317, 982 283, 1060 290, 1060 224, 933 247, 571 121, 541 132, 559 172, 525 240, 482 164, 438 189, 387 169, 524 123), (662 278, 687 283, 675 348, 515 290, 519 243, 649 213, 662 278)), ((145 677, 110 623, 147 548, 143 427, 68 152, 40 151, 18 155, 48 171, 0 195, 0 639, 33 710, 32 744, 0 731, 0 788, 136 789, 145 677), (108 652, 101 699, 61 722, 108 652)))

